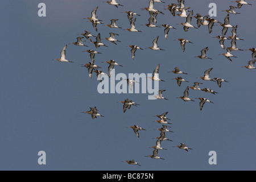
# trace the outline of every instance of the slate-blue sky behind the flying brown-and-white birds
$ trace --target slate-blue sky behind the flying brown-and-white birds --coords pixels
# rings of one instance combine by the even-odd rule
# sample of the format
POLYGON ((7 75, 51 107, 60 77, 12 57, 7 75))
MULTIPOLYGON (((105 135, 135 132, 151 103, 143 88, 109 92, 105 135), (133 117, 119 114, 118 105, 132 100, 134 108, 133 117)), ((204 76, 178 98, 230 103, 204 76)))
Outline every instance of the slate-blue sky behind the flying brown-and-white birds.
MULTIPOLYGON (((164 1, 164 0, 163 0, 164 1)), ((157 16, 157 24, 170 24, 176 30, 170 30, 168 39, 164 39, 164 27, 148 28, 149 14, 146 10, 148 0, 119 0, 122 7, 114 7, 102 0, 74 1, 1 1, 1 100, 0 100, 0 169, 1 170, 255 170, 256 169, 256 121, 255 121, 255 70, 241 68, 251 60, 250 51, 234 51, 232 62, 219 55, 226 50, 220 47, 218 39, 221 26, 214 26, 209 34, 207 26, 199 29, 189 28, 184 32, 185 18, 172 16, 166 6, 176 3, 155 3, 155 9, 163 11, 157 16), (38 16, 38 4, 46 4, 46 17, 38 16), (98 32, 102 42, 108 47, 96 48, 87 39, 88 47, 68 45, 66 56, 74 63, 52 61, 60 57, 60 51, 72 42, 77 34, 90 31, 98 32, 86 19, 98 6, 97 16, 102 23, 109 24, 110 19, 119 19, 117 25, 122 28, 109 28, 99 24, 98 32), (135 27, 142 32, 129 32, 127 14, 133 11, 141 16, 135 27), (104 38, 109 32, 116 36, 118 45, 104 38), (158 46, 164 51, 152 51, 152 40, 159 36, 158 46), (185 52, 174 39, 188 39, 185 52), (129 45, 137 45, 135 59, 131 59, 129 45), (201 60, 201 49, 209 47, 207 56, 212 60, 201 60), (159 77, 166 82, 159 83, 159 89, 166 89, 163 96, 167 100, 148 100, 146 94, 99 94, 96 74, 92 79, 88 70, 81 67, 90 61, 89 53, 94 49, 102 54, 96 55, 95 64, 108 72, 108 64, 103 61, 115 60, 123 67, 115 67, 115 73, 152 73, 160 64, 159 77), (168 73, 175 67, 188 73, 180 75, 189 82, 179 87, 176 80, 179 75, 168 73), (216 82, 203 81, 206 69, 212 78, 221 77, 229 82, 218 88, 216 82), (189 97, 196 102, 183 102, 180 97, 187 86, 193 82, 202 82, 201 88, 210 88, 218 94, 205 93, 189 89, 189 97), (196 97, 206 97, 214 104, 206 103, 199 109, 196 97), (140 104, 132 106, 126 113, 122 104, 126 98, 140 104), (105 117, 92 119, 89 107, 96 106, 105 117), (159 156, 165 160, 146 158, 151 155, 155 145, 154 137, 159 137, 162 127, 153 122, 158 118, 152 115, 168 111, 174 133, 166 133, 173 140, 163 141, 159 156), (139 125, 146 131, 139 131, 137 138, 132 129, 139 125), (177 146, 180 143, 193 148, 186 152, 177 146), (46 152, 46 165, 38 164, 38 152, 46 152), (208 163, 209 151, 216 151, 217 165, 208 163), (123 163, 123 160, 135 160, 141 167, 123 163)), ((249 3, 254 1, 248 0, 249 3)), ((224 22, 231 1, 185 1, 193 14, 207 15, 209 3, 216 3, 217 16, 224 22)), ((249 49, 255 47, 255 7, 244 5, 236 9, 238 15, 230 14, 230 24, 238 25, 237 47, 249 49)), ((196 19, 192 19, 196 26, 196 19)), ((218 23, 217 23, 218 24, 218 23)), ((216 24, 216 25, 217 25, 216 24)), ((231 36, 229 28, 227 36, 231 36)), ((92 38, 94 41, 95 39, 92 38)), ((230 40, 225 40, 230 46, 230 40)))

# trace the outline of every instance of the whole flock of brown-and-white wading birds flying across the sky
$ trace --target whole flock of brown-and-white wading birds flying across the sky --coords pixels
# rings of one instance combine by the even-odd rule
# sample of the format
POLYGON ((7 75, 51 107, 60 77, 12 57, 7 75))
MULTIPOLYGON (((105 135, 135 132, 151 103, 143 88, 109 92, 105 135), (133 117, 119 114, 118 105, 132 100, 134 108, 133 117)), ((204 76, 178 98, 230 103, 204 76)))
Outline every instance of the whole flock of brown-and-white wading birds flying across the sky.
MULTIPOLYGON (((150 18, 148 19, 148 23, 147 24, 143 24, 142 26, 147 26, 147 27, 150 27, 150 28, 160 27, 160 26, 157 26, 155 23, 157 23, 157 16, 158 16, 158 14, 163 14, 164 15, 164 13, 162 11, 156 10, 154 8, 154 3, 155 2, 165 3, 165 2, 159 1, 159 0, 150 0, 148 7, 145 7, 145 8, 142 9, 142 10, 148 11, 148 13, 150 15, 150 18)), ((247 2, 245 2, 243 0, 235 1, 237 3, 237 7, 236 6, 230 6, 230 9, 224 10, 228 14, 224 18, 224 23, 221 23, 221 22, 219 22, 216 19, 209 18, 210 17, 209 15, 202 16, 199 13, 197 13, 196 16, 193 16, 193 10, 189 11, 190 7, 186 7, 184 5, 184 0, 177 0, 177 2, 178 2, 177 4, 176 3, 172 3, 171 5, 167 5, 167 10, 169 10, 170 13, 173 16, 178 15, 181 18, 185 18, 186 19, 184 23, 179 23, 179 24, 181 24, 183 26, 183 29, 184 29, 185 32, 189 31, 189 28, 196 28, 196 29, 198 29, 201 26, 208 26, 209 34, 211 34, 212 31, 213 31, 214 24, 218 23, 219 26, 223 27, 222 28, 222 32, 221 32, 221 35, 218 35, 218 36, 216 36, 214 38, 217 38, 217 39, 220 40, 219 43, 220 43, 220 46, 221 46, 222 49, 226 49, 226 53, 222 53, 221 55, 224 55, 229 61, 232 61, 230 59, 230 57, 236 57, 236 56, 232 55, 233 51, 245 51, 244 49, 237 48, 237 46, 236 46, 236 41, 237 40, 243 40, 243 39, 240 39, 237 36, 237 27, 238 26, 233 26, 233 25, 229 24, 229 15, 230 14, 240 14, 240 13, 237 13, 235 10, 236 9, 240 9, 243 5, 251 5, 251 4, 249 4, 249 3, 247 3, 247 2), (178 13, 178 14, 176 14, 176 13, 178 13), (191 24, 192 23, 192 18, 196 19, 197 27, 193 26, 191 24), (232 28, 232 36, 226 37, 226 33, 228 32, 229 28, 232 28), (230 47, 227 47, 227 48, 225 47, 225 45, 224 45, 224 41, 225 40, 231 40, 231 46, 230 47)), ((113 5, 115 7, 123 6, 123 5, 119 4, 115 0, 106 1, 106 3, 108 3, 109 5, 113 5)), ((96 15, 97 10, 98 10, 98 7, 96 7, 92 11, 92 13, 91 13, 92 16, 90 16, 88 18, 84 18, 84 19, 89 19, 89 22, 92 23, 92 26, 93 26, 93 28, 94 28, 94 30, 96 32, 98 31, 98 29, 97 29, 97 25, 98 24, 104 25, 104 23, 102 23, 102 20, 97 18, 97 15, 96 15)), ((136 22, 137 18, 134 18, 134 16, 141 16, 141 15, 139 15, 137 13, 134 13, 132 11, 124 11, 122 13, 126 13, 127 14, 127 18, 129 20, 129 23, 130 23, 130 28, 127 28, 125 30, 130 31, 130 32, 141 32, 140 30, 137 30, 135 28, 135 22, 136 22)), ((110 24, 106 24, 106 26, 108 26, 110 28, 122 28, 122 27, 119 27, 117 25, 117 21, 118 21, 118 19, 111 19, 110 20, 111 23, 110 24)), ((164 38, 165 39, 168 39, 168 32, 170 31, 170 29, 176 29, 175 27, 172 27, 169 24, 162 24, 161 26, 164 27, 164 38)), ((110 34, 110 36, 108 38, 105 38, 105 40, 108 40, 109 42, 117 45, 117 43, 120 42, 120 41, 117 40, 115 38, 115 36, 118 36, 118 34, 115 34, 114 32, 110 32, 109 34, 110 34)), ((81 36, 76 38, 77 42, 73 42, 71 44, 73 44, 75 46, 88 47, 88 46, 86 46, 84 44, 84 40, 83 40, 83 38, 86 38, 86 39, 89 40, 89 42, 93 43, 96 48, 99 48, 100 46, 108 47, 104 43, 102 43, 102 39, 101 39, 101 34, 100 33, 98 33, 97 36, 94 36, 89 31, 85 31, 84 33, 78 34, 78 35, 81 35, 81 36), (92 41, 92 38, 96 38, 96 41, 92 41)), ((154 40, 152 41, 152 47, 147 47, 147 48, 155 50, 155 51, 158 51, 158 50, 163 51, 164 49, 159 48, 159 46, 158 46, 158 39, 159 39, 159 36, 154 38, 154 40)), ((185 44, 186 43, 193 44, 189 40, 185 40, 183 38, 175 39, 175 40, 179 40, 180 41, 181 50, 183 52, 185 52, 185 44)), ((130 52, 131 52, 131 58, 132 59, 135 59, 135 52, 138 49, 143 50, 143 48, 140 48, 139 46, 136 46, 136 45, 130 45, 130 46, 127 46, 127 47, 131 48, 130 52)), ((60 62, 73 63, 73 61, 69 61, 69 60, 66 59, 66 56, 65 56, 66 49, 67 49, 67 45, 65 45, 63 47, 63 49, 61 50, 61 52, 60 52, 61 57, 59 59, 55 59, 55 60, 60 61, 60 62)), ((208 47, 203 48, 201 50, 201 55, 195 56, 195 57, 199 57, 200 59, 212 59, 212 58, 207 56, 207 51, 208 50, 209 50, 208 47)), ((246 50, 250 50, 252 52, 252 55, 251 55, 252 60, 250 60, 248 62, 248 65, 245 65, 244 67, 247 68, 247 69, 256 69, 255 66, 254 66, 255 61, 256 61, 256 48, 249 48, 249 49, 246 49, 246 50)), ((90 78, 92 78, 92 74, 93 74, 93 72, 95 72, 97 74, 97 78, 98 78, 98 80, 100 82, 102 81, 101 80, 102 75, 108 75, 109 77, 111 76, 112 69, 115 66, 122 67, 122 65, 118 64, 114 60, 109 60, 109 61, 102 62, 102 63, 108 63, 109 64, 108 74, 106 74, 106 73, 102 72, 99 69, 101 67, 98 67, 96 64, 94 64, 94 62, 95 62, 95 55, 98 54, 98 53, 101 53, 101 52, 94 51, 93 49, 88 49, 88 50, 86 50, 84 52, 90 53, 90 60, 91 61, 89 63, 87 63, 87 64, 82 65, 82 67, 88 68, 88 74, 89 74, 90 78)), ((160 68, 160 64, 158 64, 156 66, 156 68, 154 69, 154 75, 152 77, 148 77, 148 78, 150 78, 151 80, 154 80, 154 81, 164 81, 164 80, 159 78, 159 68, 160 68)), ((222 82, 228 82, 228 81, 226 81, 226 80, 224 80, 222 78, 219 78, 219 77, 210 78, 210 72, 212 71, 212 69, 213 68, 207 69, 204 72, 204 76, 201 76, 199 78, 201 78, 204 81, 217 82, 218 87, 221 88, 222 82)), ((183 71, 180 71, 180 69, 177 68, 177 67, 174 68, 174 71, 170 71, 170 72, 175 73, 176 75, 188 75, 188 73, 184 73, 183 71)), ((185 80, 181 76, 173 78, 173 80, 177 81, 177 85, 178 86, 181 86, 182 82, 188 82, 187 80, 185 80)), ((126 81, 127 81, 127 84, 129 85, 129 89, 130 90, 133 89, 134 83, 137 82, 137 81, 131 80, 131 79, 126 79, 126 81)), ((193 86, 187 86, 185 88, 185 90, 184 90, 183 96, 180 96, 180 97, 177 97, 177 98, 180 98, 184 102, 188 102, 188 101, 195 102, 195 100, 192 100, 191 98, 188 97, 189 89, 192 89, 192 90, 202 90, 202 91, 210 93, 210 94, 217 94, 218 93, 218 92, 215 92, 214 90, 212 90, 210 88, 201 89, 200 88, 201 84, 203 84, 203 83, 202 82, 194 82, 193 86)), ((166 90, 159 90, 158 95, 154 96, 154 97, 156 99, 160 99, 160 100, 168 100, 167 98, 163 97, 163 92, 164 91, 166 91, 166 90)), ((200 103, 199 103, 200 110, 203 109, 203 106, 204 106, 205 102, 209 102, 209 103, 213 104, 212 101, 210 101, 210 100, 208 100, 207 98, 204 98, 204 97, 198 97, 196 99, 200 100, 200 103)), ((135 103, 132 100, 129 100, 128 98, 126 100, 124 100, 124 101, 119 101, 119 102, 123 104, 123 113, 125 113, 127 109, 130 109, 131 106, 139 106, 139 104, 135 103)), ((89 111, 84 111, 82 113, 90 114, 92 116, 92 119, 95 119, 97 117, 104 117, 104 115, 101 115, 100 113, 98 113, 97 107, 90 107, 89 111)), ((166 138, 166 132, 173 132, 173 131, 168 129, 168 127, 170 127, 168 125, 170 125, 171 123, 167 122, 167 120, 170 120, 169 118, 166 117, 167 114, 168 114, 168 111, 166 113, 161 114, 161 115, 155 115, 156 117, 159 118, 159 120, 157 120, 155 122, 160 123, 162 125, 162 127, 159 128, 159 129, 156 129, 156 130, 160 131, 160 137, 156 137, 155 138, 155 139, 157 139, 156 140, 156 145, 150 147, 150 148, 154 148, 154 151, 153 151, 152 155, 148 155, 148 156, 153 158, 153 159, 163 159, 160 156, 158 156, 158 151, 159 150, 166 150, 166 148, 162 148, 161 147, 161 144, 162 144, 162 142, 164 140, 172 141, 171 139, 166 138)), ((141 131, 141 130, 145 130, 145 129, 143 129, 142 127, 140 127, 138 125, 133 125, 133 126, 130 126, 129 128, 133 129, 135 135, 137 135, 138 138, 139 138, 139 133, 138 132, 141 131)), ((192 148, 189 148, 184 143, 180 143, 180 145, 174 146, 174 147, 178 147, 181 150, 185 150, 185 151, 192 150, 192 148)), ((140 164, 138 164, 134 160, 126 160, 126 161, 123 161, 123 162, 127 162, 128 164, 137 164, 138 166, 141 166, 140 164)))

